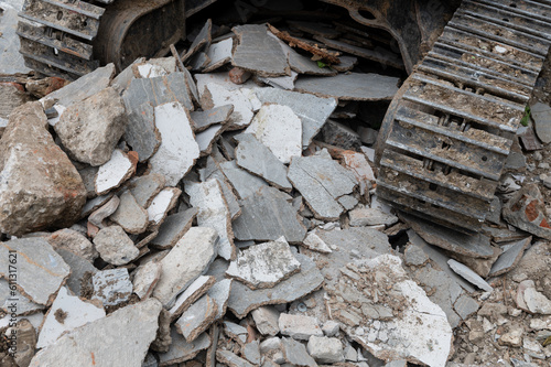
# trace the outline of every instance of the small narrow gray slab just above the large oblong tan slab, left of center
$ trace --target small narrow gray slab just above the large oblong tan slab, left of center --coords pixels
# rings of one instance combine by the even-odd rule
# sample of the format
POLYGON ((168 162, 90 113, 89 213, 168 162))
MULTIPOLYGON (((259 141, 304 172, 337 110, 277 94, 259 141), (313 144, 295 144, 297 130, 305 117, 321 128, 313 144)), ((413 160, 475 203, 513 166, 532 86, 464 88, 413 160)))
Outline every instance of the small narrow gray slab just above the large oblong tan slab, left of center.
POLYGON ((151 245, 160 249, 172 248, 182 236, 192 227, 197 215, 197 208, 169 215, 159 227, 159 235, 151 240, 151 245))

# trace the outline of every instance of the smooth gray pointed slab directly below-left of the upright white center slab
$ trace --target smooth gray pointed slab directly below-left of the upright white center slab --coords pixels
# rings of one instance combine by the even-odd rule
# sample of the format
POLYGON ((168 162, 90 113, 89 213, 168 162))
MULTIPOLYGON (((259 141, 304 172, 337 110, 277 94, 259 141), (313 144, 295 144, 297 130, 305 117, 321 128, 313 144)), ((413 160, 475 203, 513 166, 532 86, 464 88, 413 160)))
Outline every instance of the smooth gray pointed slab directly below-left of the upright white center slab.
POLYGON ((293 188, 287 179, 287 168, 253 134, 241 133, 235 139, 239 142, 236 148, 237 165, 264 179, 280 190, 293 188))

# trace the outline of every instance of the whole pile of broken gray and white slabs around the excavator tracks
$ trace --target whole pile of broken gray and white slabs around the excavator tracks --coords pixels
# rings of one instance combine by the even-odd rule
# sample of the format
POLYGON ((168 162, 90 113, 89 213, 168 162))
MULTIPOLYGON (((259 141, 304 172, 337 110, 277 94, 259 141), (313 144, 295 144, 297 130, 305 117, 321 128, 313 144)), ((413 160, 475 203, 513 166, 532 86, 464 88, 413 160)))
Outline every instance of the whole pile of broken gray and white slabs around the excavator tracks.
POLYGON ((374 144, 399 56, 288 25, 209 20, 13 109, 1 366, 547 364, 548 177, 519 149, 475 236, 395 212, 374 144))

